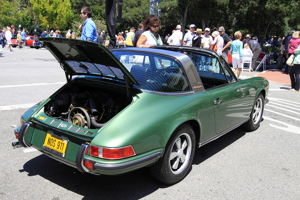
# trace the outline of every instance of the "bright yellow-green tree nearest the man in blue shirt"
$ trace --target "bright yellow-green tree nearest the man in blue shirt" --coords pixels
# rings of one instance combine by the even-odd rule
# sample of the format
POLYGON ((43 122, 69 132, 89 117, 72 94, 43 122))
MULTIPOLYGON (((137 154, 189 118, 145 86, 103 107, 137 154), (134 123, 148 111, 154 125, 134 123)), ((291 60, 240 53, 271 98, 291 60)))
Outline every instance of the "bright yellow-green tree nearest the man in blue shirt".
POLYGON ((44 27, 65 28, 72 19, 70 0, 30 0, 36 20, 44 27))

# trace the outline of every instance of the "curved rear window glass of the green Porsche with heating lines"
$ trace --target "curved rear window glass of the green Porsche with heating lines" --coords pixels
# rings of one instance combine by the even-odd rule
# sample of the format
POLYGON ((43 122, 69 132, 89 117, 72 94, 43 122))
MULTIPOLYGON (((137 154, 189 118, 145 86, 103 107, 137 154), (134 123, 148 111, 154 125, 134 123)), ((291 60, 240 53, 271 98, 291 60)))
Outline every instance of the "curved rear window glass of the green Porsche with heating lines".
POLYGON ((180 64, 173 58, 128 51, 112 52, 142 89, 158 92, 190 91, 180 64))

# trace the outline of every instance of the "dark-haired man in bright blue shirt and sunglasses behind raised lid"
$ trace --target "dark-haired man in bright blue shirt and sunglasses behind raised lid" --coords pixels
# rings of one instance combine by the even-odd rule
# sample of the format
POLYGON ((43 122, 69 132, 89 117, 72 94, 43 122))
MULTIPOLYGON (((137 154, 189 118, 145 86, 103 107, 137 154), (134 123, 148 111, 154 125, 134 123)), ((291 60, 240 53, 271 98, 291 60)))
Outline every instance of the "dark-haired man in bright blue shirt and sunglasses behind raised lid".
POLYGON ((92 21, 92 10, 90 7, 83 6, 80 13, 84 25, 79 26, 79 31, 82 32, 80 40, 97 42, 97 29, 95 23, 92 21))

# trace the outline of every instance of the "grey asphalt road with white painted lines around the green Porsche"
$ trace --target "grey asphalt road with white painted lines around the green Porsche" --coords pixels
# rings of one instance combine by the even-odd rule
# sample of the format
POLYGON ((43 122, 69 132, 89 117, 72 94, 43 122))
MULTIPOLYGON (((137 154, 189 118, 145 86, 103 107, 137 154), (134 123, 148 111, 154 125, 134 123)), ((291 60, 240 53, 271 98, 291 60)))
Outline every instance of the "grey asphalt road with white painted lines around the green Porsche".
POLYGON ((165 185, 147 168, 96 176, 32 148, 13 150, 22 113, 66 80, 47 50, 14 50, 0 58, 0 199, 299 199, 300 100, 286 85, 271 82, 258 130, 238 128, 196 149, 188 175, 165 185))

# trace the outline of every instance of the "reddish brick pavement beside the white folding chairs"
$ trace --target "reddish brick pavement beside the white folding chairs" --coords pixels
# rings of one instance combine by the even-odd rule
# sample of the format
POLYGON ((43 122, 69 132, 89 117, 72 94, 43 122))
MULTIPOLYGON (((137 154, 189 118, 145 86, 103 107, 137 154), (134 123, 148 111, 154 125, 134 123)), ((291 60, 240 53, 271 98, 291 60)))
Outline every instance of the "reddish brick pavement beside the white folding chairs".
POLYGON ((283 73, 283 70, 267 70, 257 74, 257 76, 264 77, 269 81, 274 81, 283 84, 291 84, 291 79, 288 74, 283 73))

